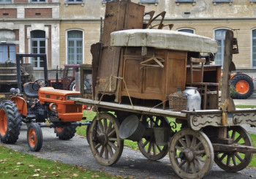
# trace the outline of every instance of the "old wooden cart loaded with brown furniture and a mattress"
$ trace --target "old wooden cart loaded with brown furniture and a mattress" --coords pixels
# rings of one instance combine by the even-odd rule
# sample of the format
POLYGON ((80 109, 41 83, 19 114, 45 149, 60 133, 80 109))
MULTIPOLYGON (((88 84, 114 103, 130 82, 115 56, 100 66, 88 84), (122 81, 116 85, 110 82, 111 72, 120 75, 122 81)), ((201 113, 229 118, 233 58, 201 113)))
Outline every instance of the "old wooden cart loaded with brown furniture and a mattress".
MULTIPOLYGON (((102 42, 91 46, 92 99, 83 89, 82 97, 71 98, 93 106, 97 112, 89 128, 95 159, 102 165, 115 164, 124 140, 133 140, 147 159, 159 160, 169 153, 173 170, 181 178, 203 178, 214 161, 227 172, 243 170, 256 148, 241 125, 256 126, 256 110, 236 110, 229 97, 233 32, 227 31, 225 39, 219 107, 220 66, 202 64, 197 74, 189 64, 192 58, 202 57, 202 52, 217 53, 217 42, 195 34, 159 30, 164 26, 165 13, 160 14, 158 30, 119 31, 143 28, 143 9, 124 0, 107 3, 102 42), (112 31, 116 32, 110 36, 112 31), (200 94, 205 109, 169 110, 168 96, 188 85, 204 86, 200 94), (211 91, 211 85, 217 89, 211 91), (208 98, 212 95, 214 100, 208 98), (177 129, 178 123, 181 129, 177 129)), ((146 28, 155 19, 148 14, 151 18, 146 28)), ((81 65, 82 78, 87 71, 81 65)))

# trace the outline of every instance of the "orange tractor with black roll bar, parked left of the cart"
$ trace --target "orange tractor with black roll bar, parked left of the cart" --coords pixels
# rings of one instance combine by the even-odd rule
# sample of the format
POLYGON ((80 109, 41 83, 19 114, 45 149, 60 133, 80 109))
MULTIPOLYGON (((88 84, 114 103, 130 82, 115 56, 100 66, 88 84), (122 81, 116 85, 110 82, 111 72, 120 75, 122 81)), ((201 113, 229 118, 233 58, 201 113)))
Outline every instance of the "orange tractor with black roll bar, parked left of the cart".
MULTIPOLYGON (((16 55, 17 64, 23 56, 16 55)), ((41 57, 41 55, 39 55, 41 57)), ((46 56, 43 56, 46 63, 46 56)), ((47 64, 45 65, 47 66, 47 64)), ((45 70, 47 72, 47 70, 45 70)), ((18 69, 18 76, 20 70, 18 69)), ((66 91, 46 87, 46 79, 36 80, 23 85, 23 94, 20 88, 12 88, 10 100, 0 103, 0 138, 1 142, 14 143, 18 140, 20 126, 26 123, 28 126, 27 140, 31 151, 39 151, 42 148, 41 127, 54 128, 56 136, 60 140, 69 140, 75 136, 76 127, 90 125, 76 123, 83 119, 83 105, 74 104, 70 97, 80 96, 78 91, 66 91), (48 123, 45 123, 48 122, 48 123)), ((20 78, 18 77, 18 84, 20 78)))

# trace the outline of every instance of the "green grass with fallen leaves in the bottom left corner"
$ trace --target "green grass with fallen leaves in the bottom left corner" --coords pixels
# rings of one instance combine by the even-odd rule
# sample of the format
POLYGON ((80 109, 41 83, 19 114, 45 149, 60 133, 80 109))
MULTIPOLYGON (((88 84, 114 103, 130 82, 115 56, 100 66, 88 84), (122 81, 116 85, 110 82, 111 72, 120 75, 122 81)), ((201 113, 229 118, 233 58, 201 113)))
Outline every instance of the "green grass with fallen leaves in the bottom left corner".
POLYGON ((0 178, 119 178, 104 172, 40 159, 0 145, 0 178))

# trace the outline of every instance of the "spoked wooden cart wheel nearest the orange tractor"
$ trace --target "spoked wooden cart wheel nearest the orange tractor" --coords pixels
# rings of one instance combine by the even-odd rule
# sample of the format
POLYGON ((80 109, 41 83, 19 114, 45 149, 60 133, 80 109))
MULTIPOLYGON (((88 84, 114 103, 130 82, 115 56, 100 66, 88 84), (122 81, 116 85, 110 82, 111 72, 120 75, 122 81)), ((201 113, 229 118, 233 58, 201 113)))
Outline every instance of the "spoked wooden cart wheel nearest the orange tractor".
POLYGON ((99 113, 89 128, 91 152, 99 164, 115 164, 124 148, 124 140, 119 137, 119 122, 110 113, 99 113))

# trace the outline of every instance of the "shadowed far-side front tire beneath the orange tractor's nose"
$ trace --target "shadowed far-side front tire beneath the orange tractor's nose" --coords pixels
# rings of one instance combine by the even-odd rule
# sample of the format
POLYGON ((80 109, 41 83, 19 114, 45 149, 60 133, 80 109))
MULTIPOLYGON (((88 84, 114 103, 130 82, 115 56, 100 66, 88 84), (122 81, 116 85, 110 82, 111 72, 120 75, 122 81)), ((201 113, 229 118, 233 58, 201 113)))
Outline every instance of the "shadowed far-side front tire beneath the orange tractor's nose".
POLYGON ((59 140, 70 140, 75 136, 76 128, 77 126, 56 127, 54 133, 56 133, 56 137, 59 137, 59 140))

